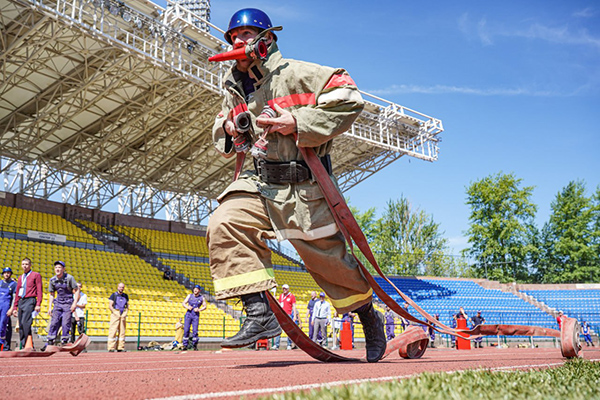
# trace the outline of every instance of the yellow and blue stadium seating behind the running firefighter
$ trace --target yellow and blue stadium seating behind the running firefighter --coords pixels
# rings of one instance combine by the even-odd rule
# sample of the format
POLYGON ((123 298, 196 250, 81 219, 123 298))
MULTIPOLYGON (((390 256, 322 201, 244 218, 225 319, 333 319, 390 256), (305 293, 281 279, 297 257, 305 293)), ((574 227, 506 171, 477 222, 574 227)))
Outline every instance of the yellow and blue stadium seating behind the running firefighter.
MULTIPOLYGON (((89 221, 78 220, 85 227, 111 234, 104 226, 89 221)), ((145 338, 170 338, 174 335, 175 322, 183 317, 182 301, 190 292, 176 281, 163 278, 158 269, 152 267, 140 257, 113 252, 92 235, 52 214, 0 206, 0 256, 5 265, 12 266, 15 278, 20 273, 20 261, 29 257, 34 269, 42 274, 47 287, 53 275, 52 264, 56 260, 65 261, 67 272, 82 281, 84 292, 88 294, 88 333, 90 336, 106 337, 108 334, 108 297, 119 282, 126 284, 126 292, 131 298, 131 311, 128 317, 128 336, 145 338), (27 236, 28 230, 50 232, 65 235, 67 243, 48 243, 33 240, 27 236), (90 249, 78 243, 93 243, 99 248, 90 249)), ((198 234, 185 234, 133 228, 124 225, 112 225, 121 233, 129 235, 142 245, 156 253, 159 260, 178 273, 184 274, 195 284, 201 285, 208 293, 214 293, 210 269, 208 267, 208 248, 206 238, 198 234)), ((298 311, 303 319, 303 330, 308 331, 304 323, 307 303, 312 291, 321 289, 302 266, 277 253, 272 254, 278 292, 281 285, 287 283, 298 300, 298 311)), ((402 303, 400 297, 387 282, 376 278, 383 289, 402 303)), ((498 289, 486 289, 471 280, 393 277, 392 282, 404 293, 415 300, 430 314, 440 314, 445 324, 450 324, 452 316, 459 307, 473 316, 481 310, 487 323, 527 324, 557 328, 553 316, 524 301, 514 293, 498 289)), ((550 307, 563 310, 567 315, 586 319, 592 325, 598 325, 600 309, 600 290, 546 290, 526 291, 526 294, 543 301, 550 307)), ((36 319, 35 328, 45 335, 48 315, 47 299, 36 319)), ((241 303, 228 300, 234 311, 241 311, 241 303)), ((376 308, 383 312, 381 304, 376 308)), ((414 310, 409 311, 413 312, 414 310)), ((415 314, 416 315, 416 314, 415 314)), ((358 320, 356 321, 358 323, 358 320)), ((200 317, 200 336, 219 339, 237 332, 240 320, 224 312, 215 304, 209 304, 200 317)), ((401 333, 400 324, 396 333, 401 333)), ((284 334, 285 336, 285 334, 284 334)), ((361 340, 364 334, 360 325, 355 329, 355 337, 361 340)))

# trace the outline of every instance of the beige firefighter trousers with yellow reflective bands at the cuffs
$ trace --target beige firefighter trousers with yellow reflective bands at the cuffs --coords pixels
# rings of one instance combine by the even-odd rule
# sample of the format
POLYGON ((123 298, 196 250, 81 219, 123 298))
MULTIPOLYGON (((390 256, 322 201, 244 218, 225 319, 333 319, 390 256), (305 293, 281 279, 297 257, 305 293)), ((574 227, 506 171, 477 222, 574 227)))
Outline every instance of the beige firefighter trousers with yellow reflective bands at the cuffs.
MULTIPOLYGON (((277 285, 271 251, 265 242, 275 238, 265 201, 251 193, 230 193, 209 220, 210 270, 219 300, 277 285)), ((354 311, 371 301, 369 283, 348 254, 339 231, 325 238, 292 239, 290 243, 338 312, 354 311)))

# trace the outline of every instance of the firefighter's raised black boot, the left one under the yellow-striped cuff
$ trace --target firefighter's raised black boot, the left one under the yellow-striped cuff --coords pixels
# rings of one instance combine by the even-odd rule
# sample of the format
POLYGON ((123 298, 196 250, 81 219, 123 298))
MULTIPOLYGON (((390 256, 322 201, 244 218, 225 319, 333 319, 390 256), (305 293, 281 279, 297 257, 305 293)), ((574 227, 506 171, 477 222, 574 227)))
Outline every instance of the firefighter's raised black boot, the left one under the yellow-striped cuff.
POLYGON ((221 347, 245 347, 256 343, 257 340, 270 339, 281 334, 279 322, 271 311, 264 293, 243 295, 242 303, 246 309, 246 319, 242 328, 234 336, 223 340, 221 347))

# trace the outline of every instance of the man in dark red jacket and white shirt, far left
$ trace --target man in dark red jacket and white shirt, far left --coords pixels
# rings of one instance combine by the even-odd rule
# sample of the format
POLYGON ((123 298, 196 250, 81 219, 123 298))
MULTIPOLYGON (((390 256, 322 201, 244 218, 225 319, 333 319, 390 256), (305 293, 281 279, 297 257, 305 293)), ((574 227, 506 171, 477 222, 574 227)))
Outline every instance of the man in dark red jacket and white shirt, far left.
MULTIPOLYGON (((21 348, 27 346, 27 338, 31 336, 31 324, 34 316, 41 309, 44 291, 42 288, 42 276, 31 269, 31 260, 24 258, 21 261, 23 275, 17 280, 17 297, 15 298, 13 316, 19 321, 19 342, 21 348)), ((31 340, 33 344, 33 337, 31 340)))

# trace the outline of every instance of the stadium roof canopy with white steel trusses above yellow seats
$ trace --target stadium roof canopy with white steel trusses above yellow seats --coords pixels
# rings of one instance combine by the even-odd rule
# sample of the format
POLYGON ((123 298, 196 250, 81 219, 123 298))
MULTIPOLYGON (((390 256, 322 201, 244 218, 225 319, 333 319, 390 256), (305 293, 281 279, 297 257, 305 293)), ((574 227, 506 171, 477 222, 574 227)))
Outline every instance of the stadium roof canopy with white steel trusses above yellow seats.
MULTIPOLYGON (((226 43, 210 3, 194 0, 203 13, 185 1, 0 0, 5 191, 206 218, 234 168, 211 138, 227 66, 208 57, 226 43)), ((334 142, 342 190, 403 155, 437 159, 441 121, 363 95, 365 110, 334 142)))

